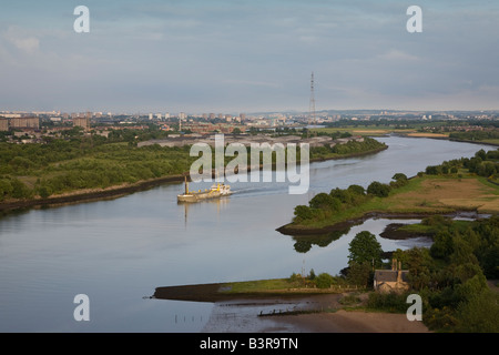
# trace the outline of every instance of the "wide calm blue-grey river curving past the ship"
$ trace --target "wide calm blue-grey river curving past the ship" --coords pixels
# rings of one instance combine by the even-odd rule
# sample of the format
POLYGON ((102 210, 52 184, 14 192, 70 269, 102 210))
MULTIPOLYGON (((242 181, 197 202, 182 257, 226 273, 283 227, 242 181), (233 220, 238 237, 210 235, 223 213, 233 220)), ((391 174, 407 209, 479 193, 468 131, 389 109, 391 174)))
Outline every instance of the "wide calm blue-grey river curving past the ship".
MULTIPOLYGON (((356 233, 368 230, 378 236, 394 221, 368 220, 336 241, 312 242, 303 250, 275 231, 291 221, 297 204, 334 187, 389 182, 397 172, 411 176, 427 165, 493 149, 430 139, 379 140, 388 150, 310 164, 310 187, 303 195, 287 194, 286 183, 237 182, 227 199, 184 205, 176 202, 183 184, 174 183, 1 217, 0 332, 257 331, 254 323, 245 326, 244 314, 232 314, 233 327, 226 320, 215 322, 217 306, 211 303, 149 297, 159 286, 287 277, 312 268, 338 274, 356 233), (73 316, 78 294, 89 297, 88 322, 73 316)), ((378 241, 385 251, 429 243, 378 241)))

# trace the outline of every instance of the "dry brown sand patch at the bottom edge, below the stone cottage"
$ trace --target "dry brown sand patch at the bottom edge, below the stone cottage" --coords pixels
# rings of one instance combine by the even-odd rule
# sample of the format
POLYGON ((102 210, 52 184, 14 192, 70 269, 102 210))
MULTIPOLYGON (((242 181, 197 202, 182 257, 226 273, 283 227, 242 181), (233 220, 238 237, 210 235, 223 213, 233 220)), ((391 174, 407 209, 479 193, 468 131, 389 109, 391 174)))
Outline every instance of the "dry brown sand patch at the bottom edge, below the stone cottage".
POLYGON ((336 313, 285 315, 273 318, 275 322, 291 325, 297 333, 430 333, 422 322, 410 322, 405 314, 339 310, 336 313))

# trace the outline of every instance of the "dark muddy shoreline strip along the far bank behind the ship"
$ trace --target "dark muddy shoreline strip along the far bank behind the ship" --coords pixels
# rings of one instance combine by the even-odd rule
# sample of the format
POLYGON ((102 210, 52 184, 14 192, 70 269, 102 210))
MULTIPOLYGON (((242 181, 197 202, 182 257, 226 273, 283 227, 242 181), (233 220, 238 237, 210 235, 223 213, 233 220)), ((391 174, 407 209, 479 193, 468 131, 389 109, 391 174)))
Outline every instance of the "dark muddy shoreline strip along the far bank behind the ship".
MULTIPOLYGON (((384 150, 388 149, 388 145, 385 145, 383 148, 361 152, 361 153, 352 153, 346 154, 345 156, 330 156, 330 158, 316 158, 310 159, 309 163, 316 163, 316 162, 324 162, 329 160, 340 160, 340 159, 349 159, 349 158, 356 158, 356 156, 364 156, 369 154, 376 154, 384 150)), ((275 164, 274 164, 275 165, 275 164)), ((259 169, 263 168, 263 164, 259 165, 259 169)), ((247 172, 251 171, 251 166, 247 166, 247 172)), ((41 206, 57 206, 57 205, 64 205, 64 204, 73 204, 73 203, 81 203, 81 202, 92 202, 92 201, 101 201, 106 199, 116 199, 121 197, 123 195, 128 195, 134 192, 139 191, 145 191, 147 189, 152 189, 155 186, 159 186, 164 183, 175 183, 175 182, 183 182, 185 176, 189 175, 189 172, 185 172, 183 174, 175 174, 175 175, 167 175, 167 176, 161 176, 152 180, 143 180, 139 181, 133 184, 128 185, 114 185, 101 190, 92 190, 92 191, 73 191, 61 195, 54 195, 47 199, 31 199, 31 200, 12 200, 12 201, 6 201, 0 203, 0 214, 7 213, 11 211, 17 210, 24 210, 30 207, 41 207, 41 206)), ((214 174, 213 174, 214 176, 214 174)))

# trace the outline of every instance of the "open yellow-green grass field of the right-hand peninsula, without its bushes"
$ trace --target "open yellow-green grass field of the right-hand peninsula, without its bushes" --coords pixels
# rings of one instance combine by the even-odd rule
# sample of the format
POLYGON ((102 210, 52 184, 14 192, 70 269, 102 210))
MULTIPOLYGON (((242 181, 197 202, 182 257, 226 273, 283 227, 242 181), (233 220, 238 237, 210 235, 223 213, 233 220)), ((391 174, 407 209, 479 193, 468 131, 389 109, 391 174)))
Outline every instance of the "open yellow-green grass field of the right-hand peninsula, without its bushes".
POLYGON ((288 223, 276 229, 286 235, 324 234, 345 230, 368 219, 422 219, 461 212, 499 213, 499 186, 473 174, 421 175, 408 180, 387 197, 374 196, 328 219, 288 223))

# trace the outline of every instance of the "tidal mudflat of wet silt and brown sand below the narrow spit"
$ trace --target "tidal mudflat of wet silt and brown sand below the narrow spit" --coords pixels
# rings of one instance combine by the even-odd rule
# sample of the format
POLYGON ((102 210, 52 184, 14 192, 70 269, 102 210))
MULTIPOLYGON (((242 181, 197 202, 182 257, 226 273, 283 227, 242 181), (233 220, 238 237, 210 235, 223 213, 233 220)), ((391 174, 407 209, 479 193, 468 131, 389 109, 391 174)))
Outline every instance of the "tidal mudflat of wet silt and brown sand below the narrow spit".
MULTIPOLYGON (((345 294, 302 297, 267 297, 215 302, 203 332, 214 333, 430 333, 422 322, 407 320, 405 314, 345 311, 345 294), (326 310, 338 310, 334 313, 326 310), (274 315, 289 311, 323 311, 274 315), (258 316, 267 314, 268 316, 258 316)), ((360 294, 364 303, 367 294, 360 294)), ((357 304, 359 305, 359 304, 357 304)))

